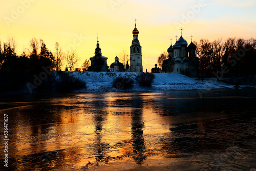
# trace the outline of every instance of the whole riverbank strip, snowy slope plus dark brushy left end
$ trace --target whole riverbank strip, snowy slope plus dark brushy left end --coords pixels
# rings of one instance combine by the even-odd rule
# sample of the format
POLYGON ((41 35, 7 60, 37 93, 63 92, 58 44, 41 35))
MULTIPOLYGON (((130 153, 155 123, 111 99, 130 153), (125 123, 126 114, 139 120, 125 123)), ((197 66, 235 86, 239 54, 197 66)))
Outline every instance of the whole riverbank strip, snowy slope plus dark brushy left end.
MULTIPOLYGON (((230 80, 207 78, 203 81, 181 74, 154 73, 155 80, 152 87, 142 87, 136 77, 140 73, 124 72, 6 72, 2 73, 2 93, 59 93, 59 92, 145 92, 171 90, 209 90, 209 89, 244 89, 256 88, 256 79, 253 77, 250 84, 243 86, 229 84, 230 80), (122 86, 113 87, 113 80, 125 77, 127 81, 134 80, 133 87, 122 89, 122 86), (10 79, 12 78, 12 79, 10 79), (42 80, 41 80, 42 79, 42 80), (253 84, 254 81, 254 84, 253 84)), ((240 78, 236 78, 240 79, 240 78)), ((239 82, 239 81, 238 81, 239 82)))

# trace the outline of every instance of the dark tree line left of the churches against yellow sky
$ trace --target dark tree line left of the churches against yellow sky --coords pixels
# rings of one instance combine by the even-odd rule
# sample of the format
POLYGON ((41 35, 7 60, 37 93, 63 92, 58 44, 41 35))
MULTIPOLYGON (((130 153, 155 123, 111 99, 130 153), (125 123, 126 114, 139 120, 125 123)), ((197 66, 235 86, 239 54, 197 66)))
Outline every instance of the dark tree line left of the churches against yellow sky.
MULTIPOLYGON (((15 70, 13 67, 15 68, 17 65, 24 65, 21 67, 25 68, 29 61, 30 63, 32 61, 32 65, 38 61, 46 61, 43 63, 50 65, 52 71, 60 71, 66 60, 68 70, 73 71, 79 61, 79 57, 75 50, 67 50, 65 53, 62 51, 62 48, 58 42, 55 42, 54 52, 51 52, 47 48, 44 40, 38 40, 35 37, 30 40, 29 46, 29 49, 24 49, 22 54, 17 55, 17 43, 13 37, 8 38, 7 41, 4 41, 3 45, 2 41, 0 40, 0 70, 15 70)), ((90 61, 87 59, 83 62, 83 71, 88 69, 90 66, 89 62, 90 61)))

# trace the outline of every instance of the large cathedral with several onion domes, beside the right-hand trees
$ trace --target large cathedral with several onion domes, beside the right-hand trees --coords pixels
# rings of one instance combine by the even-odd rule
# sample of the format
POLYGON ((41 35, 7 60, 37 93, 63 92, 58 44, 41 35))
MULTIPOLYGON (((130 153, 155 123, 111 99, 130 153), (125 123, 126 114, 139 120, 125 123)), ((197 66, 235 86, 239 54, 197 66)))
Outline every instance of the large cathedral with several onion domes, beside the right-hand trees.
POLYGON ((172 46, 172 42, 170 47, 167 49, 169 58, 173 58, 175 65, 174 71, 175 74, 183 74, 191 77, 195 77, 198 75, 198 58, 196 57, 196 49, 197 46, 191 42, 187 46, 187 41, 182 37, 182 29, 181 36, 179 40, 172 46))

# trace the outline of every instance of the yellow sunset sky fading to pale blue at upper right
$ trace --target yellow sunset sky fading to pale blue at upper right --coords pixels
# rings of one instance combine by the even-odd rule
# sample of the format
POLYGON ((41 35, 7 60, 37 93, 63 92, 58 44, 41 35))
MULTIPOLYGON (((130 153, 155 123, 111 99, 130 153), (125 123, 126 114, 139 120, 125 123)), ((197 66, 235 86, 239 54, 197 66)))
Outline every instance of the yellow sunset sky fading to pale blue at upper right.
MULTIPOLYGON (((43 39, 54 52, 55 42, 63 51, 71 47, 80 58, 94 56, 97 34, 108 66, 116 55, 130 56, 135 21, 142 46, 143 70, 151 71, 158 56, 175 44, 180 27, 190 43, 201 38, 256 38, 256 2, 240 0, 12 0, 0 6, 0 39, 14 37, 17 53, 29 48, 32 37, 43 39)), ((66 66, 66 61, 65 61, 66 66)))

